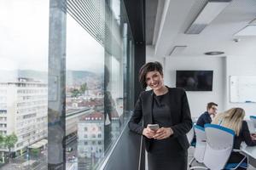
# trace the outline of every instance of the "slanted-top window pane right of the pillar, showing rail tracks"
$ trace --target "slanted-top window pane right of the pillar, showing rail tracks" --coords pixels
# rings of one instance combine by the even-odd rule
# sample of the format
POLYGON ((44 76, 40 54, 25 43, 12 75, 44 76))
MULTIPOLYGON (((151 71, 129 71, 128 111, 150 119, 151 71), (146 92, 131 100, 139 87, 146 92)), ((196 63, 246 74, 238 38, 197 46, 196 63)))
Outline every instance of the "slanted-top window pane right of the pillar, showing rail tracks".
POLYGON ((104 48, 67 14, 67 168, 104 156, 104 48))

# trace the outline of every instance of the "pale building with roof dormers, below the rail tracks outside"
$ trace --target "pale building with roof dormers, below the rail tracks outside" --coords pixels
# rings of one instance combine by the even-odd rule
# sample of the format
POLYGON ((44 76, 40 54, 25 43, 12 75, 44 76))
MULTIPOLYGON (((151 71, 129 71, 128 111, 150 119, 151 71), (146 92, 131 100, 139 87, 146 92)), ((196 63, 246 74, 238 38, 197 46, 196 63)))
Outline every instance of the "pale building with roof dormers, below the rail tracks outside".
POLYGON ((104 115, 93 112, 78 124, 78 167, 91 169, 104 156, 104 115))

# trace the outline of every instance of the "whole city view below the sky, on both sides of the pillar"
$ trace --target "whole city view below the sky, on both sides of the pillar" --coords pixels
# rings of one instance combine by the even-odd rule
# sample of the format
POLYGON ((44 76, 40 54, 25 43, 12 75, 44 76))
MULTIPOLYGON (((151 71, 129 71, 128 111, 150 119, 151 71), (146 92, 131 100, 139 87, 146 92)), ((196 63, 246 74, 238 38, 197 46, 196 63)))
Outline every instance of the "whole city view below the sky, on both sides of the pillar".
MULTIPOLYGON (((8 162, 10 156, 11 167, 43 168, 47 160, 47 72, 12 72, 18 73, 14 74, 16 78, 9 77, 7 81, 1 77, 0 82, 0 133, 3 136, 14 132, 17 141, 10 148, 10 154, 9 148, 2 145, 1 163, 8 162)), ((109 92, 104 93, 103 83, 102 74, 67 71, 67 167, 91 169, 119 136, 122 113, 118 110, 121 111, 122 106, 118 109, 116 105, 120 101, 114 101, 109 92), (108 114, 104 114, 105 95, 108 114)))

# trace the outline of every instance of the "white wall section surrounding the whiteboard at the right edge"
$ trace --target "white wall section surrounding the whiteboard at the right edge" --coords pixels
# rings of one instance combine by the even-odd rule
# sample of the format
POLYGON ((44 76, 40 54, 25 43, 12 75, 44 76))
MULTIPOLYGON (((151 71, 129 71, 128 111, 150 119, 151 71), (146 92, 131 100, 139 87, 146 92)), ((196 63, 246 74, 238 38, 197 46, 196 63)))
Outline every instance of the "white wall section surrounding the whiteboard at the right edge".
MULTIPOLYGON (((226 100, 225 107, 241 107, 246 111, 246 116, 256 115, 255 103, 230 103, 230 76, 256 76, 255 56, 229 56, 226 66, 226 100)), ((255 94, 256 95, 256 94, 255 94)))

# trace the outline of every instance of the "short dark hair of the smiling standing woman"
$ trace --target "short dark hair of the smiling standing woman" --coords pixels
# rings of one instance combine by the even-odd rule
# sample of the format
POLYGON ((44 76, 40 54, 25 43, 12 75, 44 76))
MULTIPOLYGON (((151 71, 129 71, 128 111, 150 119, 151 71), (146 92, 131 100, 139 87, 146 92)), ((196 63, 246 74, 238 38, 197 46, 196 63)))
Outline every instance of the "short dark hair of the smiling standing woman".
POLYGON ((163 76, 163 66, 160 62, 148 62, 143 65, 139 71, 139 82, 141 82, 143 88, 147 88, 146 75, 149 71, 159 71, 160 75, 163 76))

